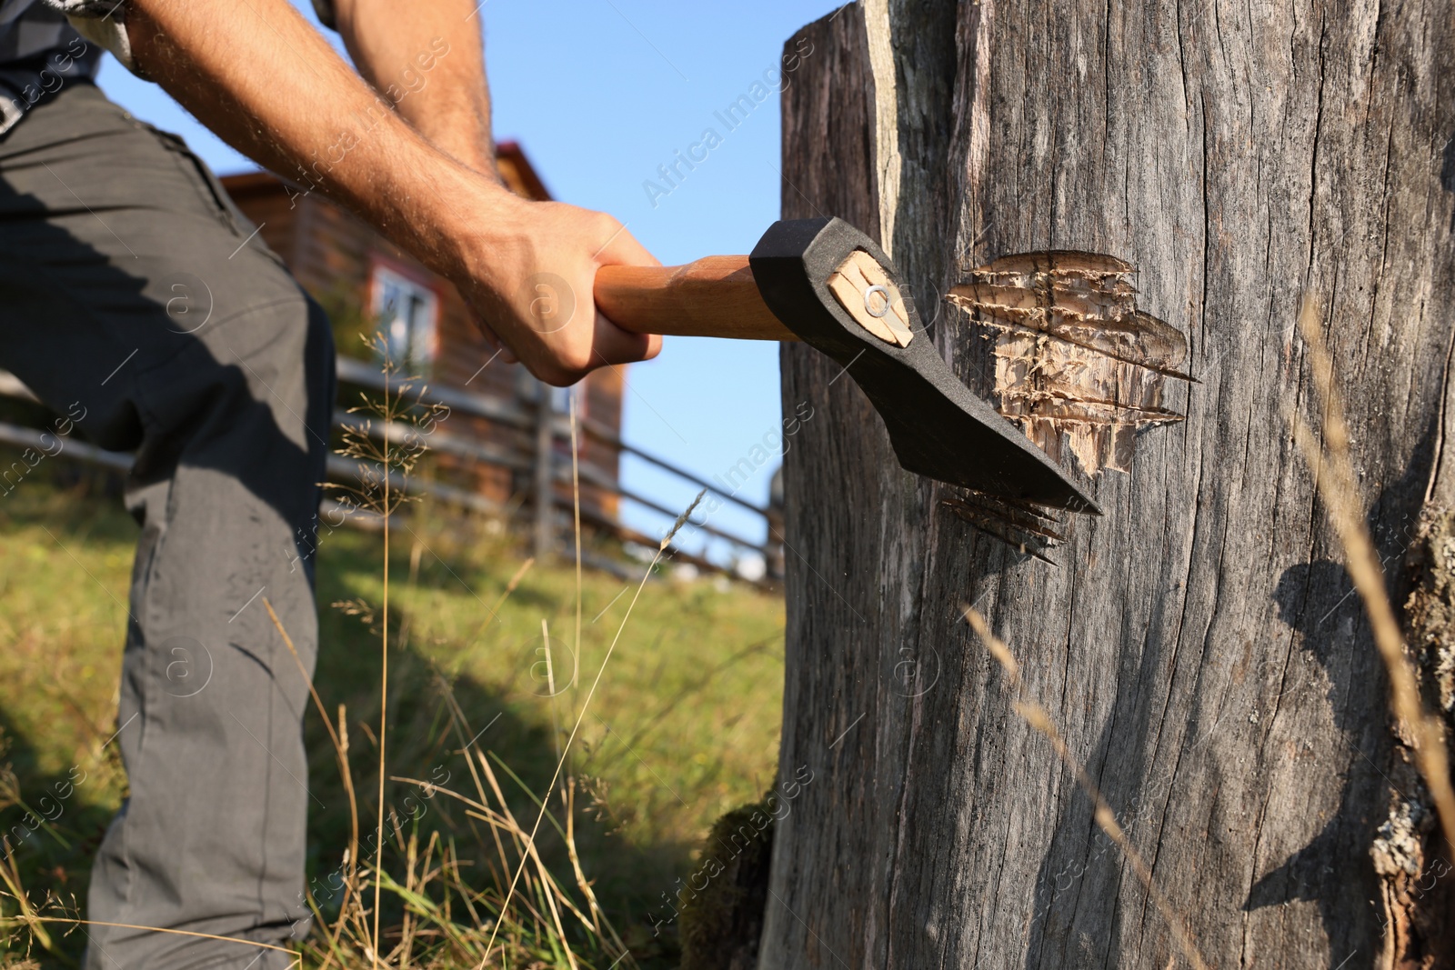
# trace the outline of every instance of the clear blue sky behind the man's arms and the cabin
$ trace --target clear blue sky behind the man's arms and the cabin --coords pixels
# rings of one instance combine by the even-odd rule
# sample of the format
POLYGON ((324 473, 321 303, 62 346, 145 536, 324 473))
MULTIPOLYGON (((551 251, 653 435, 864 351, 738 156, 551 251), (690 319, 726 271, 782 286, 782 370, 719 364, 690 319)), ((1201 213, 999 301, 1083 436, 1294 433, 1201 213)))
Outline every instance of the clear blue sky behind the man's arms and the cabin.
MULTIPOLYGON (((307 0, 294 3, 313 19, 307 0)), ((557 199, 611 212, 663 263, 746 253, 778 215, 778 95, 732 131, 714 112, 749 93, 778 67, 783 42, 835 6, 486 0, 477 20, 495 135, 521 143, 557 199), (663 185, 658 166, 685 153, 706 128, 722 137, 707 160, 668 195, 650 192, 646 182, 663 185)), ((108 60, 100 86, 138 118, 183 135, 218 173, 255 167, 116 63, 108 60)), ((778 428, 777 343, 668 337, 662 355, 630 368, 627 380, 626 439, 704 477, 723 473, 778 428)), ((765 502, 776 465, 777 458, 765 462, 739 494, 765 502)), ((623 483, 677 508, 695 492, 631 458, 623 483)), ((653 535, 665 525, 630 505, 623 519, 653 535)), ((713 524, 762 538, 761 522, 730 505, 713 524)))

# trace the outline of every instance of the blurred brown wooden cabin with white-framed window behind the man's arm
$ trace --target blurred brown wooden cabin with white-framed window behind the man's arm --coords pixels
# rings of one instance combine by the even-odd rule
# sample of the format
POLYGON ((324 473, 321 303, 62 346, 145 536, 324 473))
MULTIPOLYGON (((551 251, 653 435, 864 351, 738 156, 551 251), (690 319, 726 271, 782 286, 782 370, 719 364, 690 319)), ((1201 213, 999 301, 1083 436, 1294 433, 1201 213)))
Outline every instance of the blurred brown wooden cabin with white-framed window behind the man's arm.
MULTIPOLYGON (((518 144, 501 143, 496 163, 505 185, 517 195, 551 198, 518 144)), ((567 391, 550 388, 521 365, 496 358, 454 285, 320 193, 301 195, 268 172, 226 176, 223 185, 259 227, 263 241, 329 311, 340 356, 377 365, 359 334, 383 333, 391 356, 409 361, 409 374, 426 378, 436 390, 485 398, 483 409, 453 410, 447 429, 499 460, 436 452, 435 471, 448 484, 502 509, 531 503, 537 487, 535 457, 543 444, 537 401, 549 396, 557 414, 550 438, 556 503, 569 508, 570 490, 560 481, 562 470, 566 474, 570 470, 570 439, 560 417, 567 412, 567 391), (496 416, 487 417, 482 410, 496 416)), ((351 366, 358 369, 358 364, 348 361, 340 368, 345 406, 354 398, 346 387, 351 366)), ((595 432, 578 435, 578 458, 585 470, 582 516, 586 522, 611 525, 617 518, 620 452, 613 442, 621 436, 621 368, 595 371, 576 390, 583 423, 595 432)))

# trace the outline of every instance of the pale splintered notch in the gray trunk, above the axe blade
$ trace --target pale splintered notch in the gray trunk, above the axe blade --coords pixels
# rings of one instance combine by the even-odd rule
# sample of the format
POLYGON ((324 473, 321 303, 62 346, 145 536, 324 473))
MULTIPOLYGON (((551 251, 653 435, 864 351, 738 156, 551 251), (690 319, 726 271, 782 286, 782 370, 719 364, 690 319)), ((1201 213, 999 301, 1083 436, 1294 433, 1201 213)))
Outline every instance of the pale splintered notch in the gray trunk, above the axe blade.
POLYGON ((1163 407, 1165 378, 1192 380, 1176 369, 1181 332, 1136 308, 1133 272, 1101 253, 1020 253, 972 269, 949 294, 995 332, 1000 413, 1088 476, 1128 471, 1139 428, 1183 419, 1163 407))

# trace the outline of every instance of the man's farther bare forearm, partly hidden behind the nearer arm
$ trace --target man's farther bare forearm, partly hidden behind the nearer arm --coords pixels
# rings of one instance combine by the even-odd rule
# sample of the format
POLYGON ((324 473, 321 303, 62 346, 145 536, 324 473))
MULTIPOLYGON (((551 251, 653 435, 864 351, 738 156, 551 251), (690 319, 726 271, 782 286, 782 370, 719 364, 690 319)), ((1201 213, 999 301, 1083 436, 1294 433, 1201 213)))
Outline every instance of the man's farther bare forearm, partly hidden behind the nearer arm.
POLYGON ((495 175, 477 0, 335 0, 359 73, 441 151, 495 175))

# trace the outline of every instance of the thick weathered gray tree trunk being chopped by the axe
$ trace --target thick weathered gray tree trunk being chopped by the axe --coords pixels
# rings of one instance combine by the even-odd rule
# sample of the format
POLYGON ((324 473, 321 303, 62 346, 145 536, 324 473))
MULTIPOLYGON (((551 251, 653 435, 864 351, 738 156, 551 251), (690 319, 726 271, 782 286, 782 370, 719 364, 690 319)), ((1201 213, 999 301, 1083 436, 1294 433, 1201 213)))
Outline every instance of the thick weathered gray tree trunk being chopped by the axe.
POLYGON ((861 0, 786 49, 784 217, 877 236, 968 384, 1007 407, 1001 332, 937 294, 1052 249, 1132 263, 1197 382, 1165 380, 1186 420, 1122 435, 1126 471, 1088 477, 1104 518, 1048 564, 901 471, 840 366, 783 346, 783 410, 818 416, 784 468, 790 813, 760 967, 1183 966, 972 604, 1209 966, 1451 966, 1433 813, 1286 420, 1317 414, 1312 294, 1448 713, 1448 4, 861 0))

